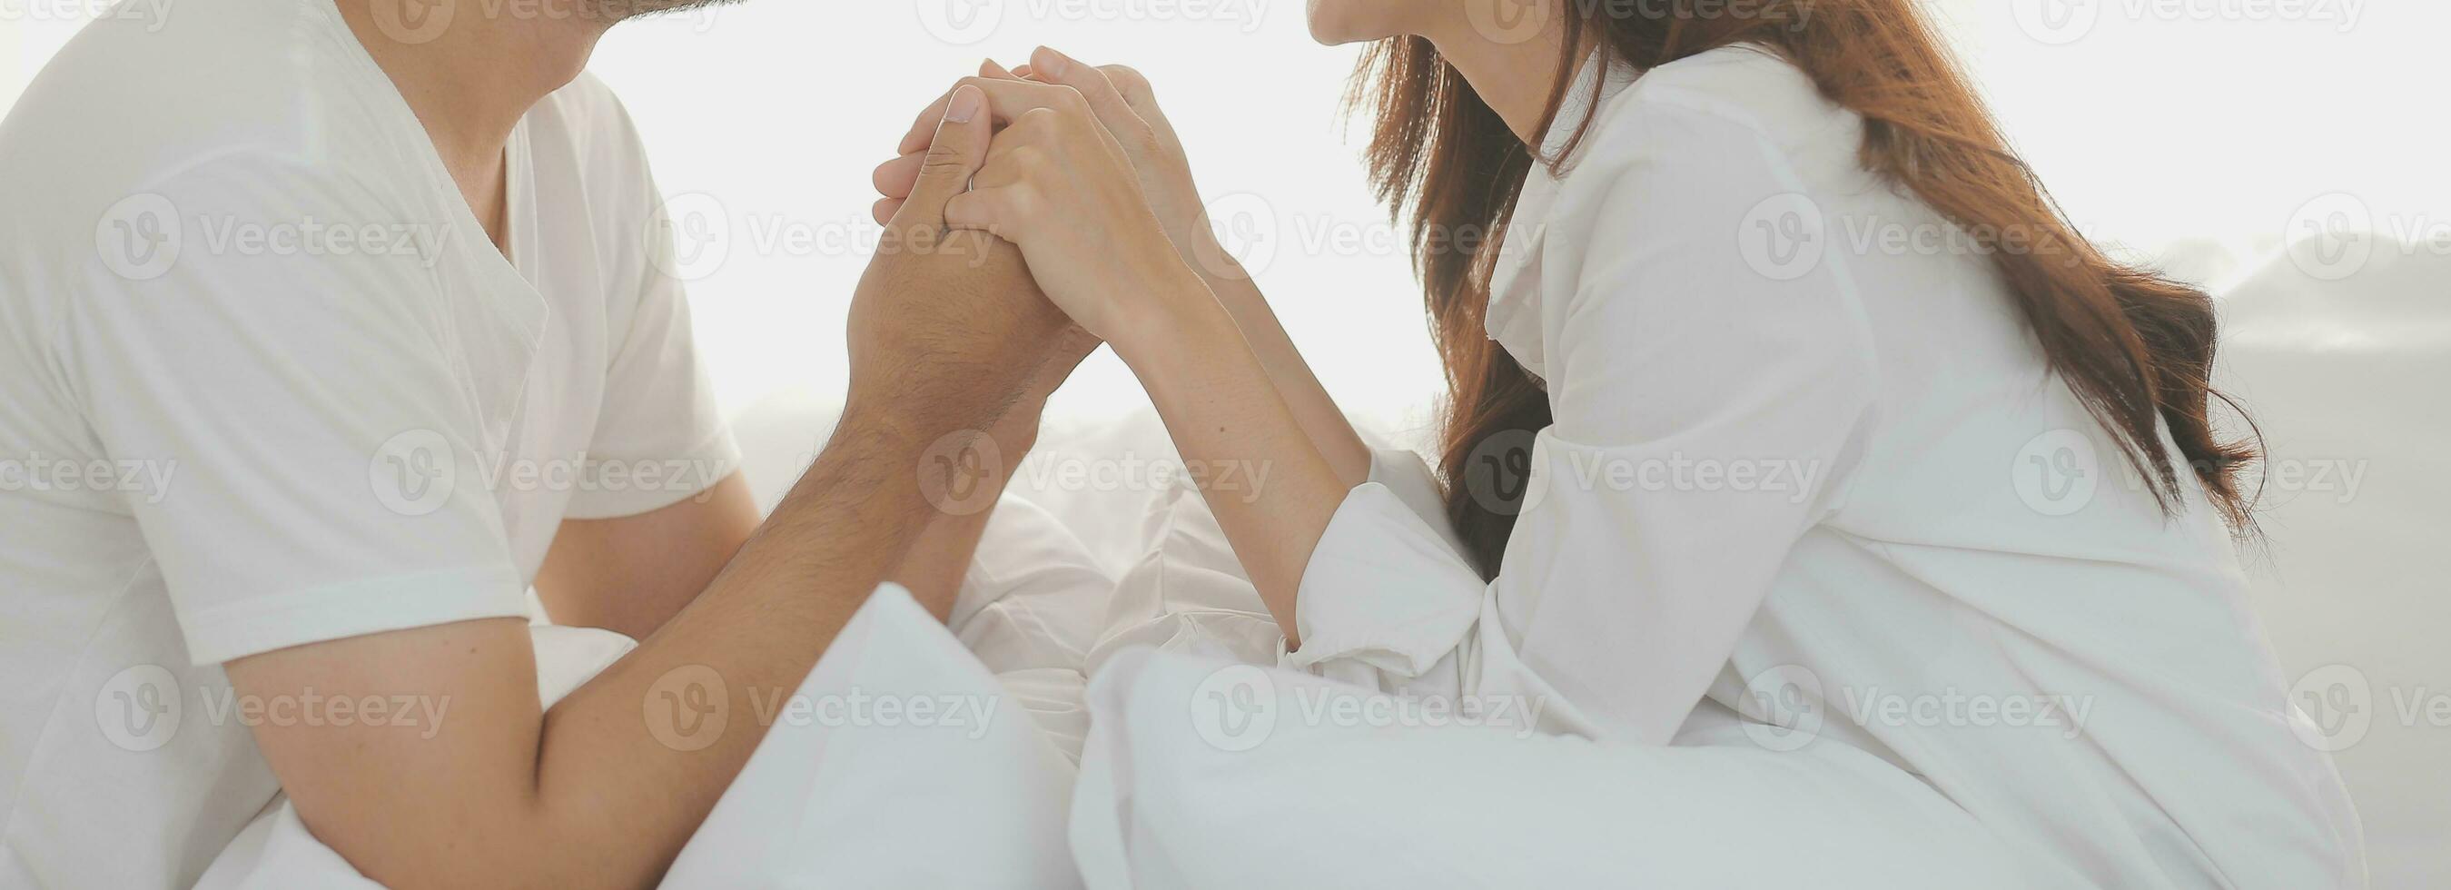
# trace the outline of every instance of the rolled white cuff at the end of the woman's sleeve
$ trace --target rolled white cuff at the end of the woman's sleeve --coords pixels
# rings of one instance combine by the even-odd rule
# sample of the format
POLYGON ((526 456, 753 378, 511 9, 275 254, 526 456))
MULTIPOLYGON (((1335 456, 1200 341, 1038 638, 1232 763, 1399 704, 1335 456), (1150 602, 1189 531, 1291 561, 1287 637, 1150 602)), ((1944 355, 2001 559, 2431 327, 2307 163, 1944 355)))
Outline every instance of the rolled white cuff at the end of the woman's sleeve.
MULTIPOLYGON (((1419 461, 1414 461, 1419 463, 1419 461)), ((1301 571, 1292 667, 1355 660, 1422 677, 1480 620, 1488 584, 1390 485, 1363 483, 1319 534, 1301 571)))

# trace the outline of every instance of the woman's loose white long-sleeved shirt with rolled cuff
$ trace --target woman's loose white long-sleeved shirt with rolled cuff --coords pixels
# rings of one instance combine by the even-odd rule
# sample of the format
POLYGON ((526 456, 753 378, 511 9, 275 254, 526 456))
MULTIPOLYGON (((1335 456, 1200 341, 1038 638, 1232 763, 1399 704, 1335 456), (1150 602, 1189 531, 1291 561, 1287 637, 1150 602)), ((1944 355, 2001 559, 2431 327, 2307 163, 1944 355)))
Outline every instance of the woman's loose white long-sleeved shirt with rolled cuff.
POLYGON ((1706 726, 1733 711, 2101 885, 2363 883, 2213 508, 2186 481, 2164 517, 1990 257, 1858 164, 1860 118, 1738 47, 1583 71, 1551 150, 1593 101, 1490 284, 1556 417, 1476 454, 1476 483, 1529 485, 1502 571, 1382 454, 1287 664, 1642 745, 1728 738, 1706 726))

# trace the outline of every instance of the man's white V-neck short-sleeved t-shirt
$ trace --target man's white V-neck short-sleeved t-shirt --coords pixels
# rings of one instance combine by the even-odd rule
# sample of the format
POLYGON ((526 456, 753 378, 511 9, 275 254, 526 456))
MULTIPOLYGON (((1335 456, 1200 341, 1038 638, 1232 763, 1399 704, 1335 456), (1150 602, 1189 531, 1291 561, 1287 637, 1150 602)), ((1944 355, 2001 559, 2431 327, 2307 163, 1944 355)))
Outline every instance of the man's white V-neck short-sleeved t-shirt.
POLYGON ((561 520, 738 466, 598 81, 512 135, 505 257, 331 0, 174 10, 0 125, 5 888, 194 883, 277 789, 252 723, 449 718, 221 662, 522 615, 561 520))

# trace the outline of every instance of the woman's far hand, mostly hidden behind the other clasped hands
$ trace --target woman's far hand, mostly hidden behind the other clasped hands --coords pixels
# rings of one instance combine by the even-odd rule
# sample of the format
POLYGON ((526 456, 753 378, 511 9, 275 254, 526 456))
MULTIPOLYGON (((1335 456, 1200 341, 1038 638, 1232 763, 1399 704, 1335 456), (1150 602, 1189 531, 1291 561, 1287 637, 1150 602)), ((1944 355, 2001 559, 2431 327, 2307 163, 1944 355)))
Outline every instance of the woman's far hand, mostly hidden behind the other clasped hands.
MULTIPOLYGON (((1120 64, 1088 66, 1047 47, 1032 51, 1029 64, 1015 71, 985 61, 978 74, 1000 81, 1027 78, 1069 86, 1081 93, 1098 123, 1123 147, 1125 159, 1132 162, 1142 196, 1150 201, 1150 213, 1157 216, 1157 223, 1167 230, 1167 240, 1179 248, 1184 262, 1191 262, 1211 282, 1248 277, 1208 228, 1208 211, 1201 203, 1199 186, 1191 181, 1191 162, 1184 157, 1184 142, 1174 135, 1174 123, 1157 108, 1150 78, 1120 64)), ((880 221, 890 218, 902 199, 909 196, 909 184, 919 174, 929 135, 941 115, 944 98, 939 96, 902 137, 902 154, 877 167, 875 184, 885 196, 877 201, 880 221)), ((1000 113, 995 123, 1007 125, 1010 115, 1000 113)))

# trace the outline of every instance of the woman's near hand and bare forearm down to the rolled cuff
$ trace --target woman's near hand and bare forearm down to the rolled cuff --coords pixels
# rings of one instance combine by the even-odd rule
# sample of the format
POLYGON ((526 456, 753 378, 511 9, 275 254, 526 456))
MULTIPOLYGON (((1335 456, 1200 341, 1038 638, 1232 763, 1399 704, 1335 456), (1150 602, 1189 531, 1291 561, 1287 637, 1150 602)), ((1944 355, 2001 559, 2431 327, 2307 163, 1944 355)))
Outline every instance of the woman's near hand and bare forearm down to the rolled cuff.
MULTIPOLYGON (((1032 66, 1054 78, 1086 71, 1042 56, 1032 66)), ((946 226, 1020 245, 1039 292, 1083 331, 1113 343, 1157 402, 1262 603, 1287 637, 1299 637, 1301 574, 1353 485, 1311 441, 1235 316, 1152 211, 1142 184, 1150 159, 1135 167, 1110 127, 1110 120, 1125 130, 1145 123, 1125 120, 1125 98, 1096 76, 1061 86, 966 78, 961 88, 985 93, 1007 120, 1029 120, 995 135, 995 154, 971 177, 971 191, 944 203, 946 226)), ((1257 324, 1260 314, 1250 311, 1257 292, 1245 299, 1260 341, 1282 341, 1275 319, 1257 324)), ((1292 390, 1316 392, 1306 380, 1304 370, 1292 390)), ((1326 395, 1306 405, 1311 424, 1328 432, 1331 451, 1368 473, 1368 451, 1351 427, 1326 419, 1333 417, 1326 395)))

